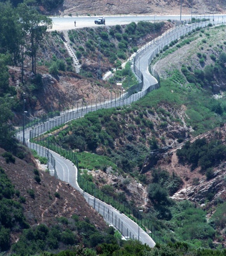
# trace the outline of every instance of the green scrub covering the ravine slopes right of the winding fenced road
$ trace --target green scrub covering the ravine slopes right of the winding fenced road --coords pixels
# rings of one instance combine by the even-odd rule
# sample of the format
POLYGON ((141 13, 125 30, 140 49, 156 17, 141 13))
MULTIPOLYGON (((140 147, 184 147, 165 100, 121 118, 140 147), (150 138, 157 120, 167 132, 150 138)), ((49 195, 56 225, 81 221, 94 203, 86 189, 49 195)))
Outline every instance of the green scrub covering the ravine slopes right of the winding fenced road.
MULTIPOLYGON (((198 32, 194 32, 191 35, 193 38, 196 36, 195 33, 198 32)), ((189 37, 184 40, 189 42, 189 37)), ((183 41, 180 44, 183 44, 183 41)), ((224 56, 224 53, 221 53, 220 56, 224 56)), ((161 133, 161 131, 167 129, 170 122, 182 123, 178 116, 175 114, 173 116, 169 110, 170 108, 178 109, 181 105, 185 105, 188 108, 187 114, 189 116, 189 119, 186 121, 188 124, 191 124, 196 133, 209 130, 210 123, 211 128, 224 123, 226 113, 224 96, 221 99, 212 98, 212 88, 210 90, 203 79, 201 79, 202 82, 204 81, 202 85, 199 85, 195 80, 195 83, 191 86, 183 70, 182 67, 182 72, 179 70, 171 72, 169 79, 162 80, 161 88, 158 91, 153 91, 139 102, 130 105, 130 107, 99 110, 85 115, 83 119, 71 122, 68 130, 59 133, 56 138, 51 137, 52 142, 65 149, 77 149, 77 145, 82 145, 79 148, 80 152, 88 150, 90 153, 98 153, 98 155, 104 155, 104 157, 107 155, 116 164, 118 171, 122 168, 128 174, 133 176, 135 174, 136 176, 137 168, 141 167, 141 163, 143 163, 149 151, 164 145, 166 138, 161 138, 160 140, 156 128, 161 133), (160 107, 162 103, 164 108, 160 107), (216 109, 220 109, 220 111, 216 111, 216 109), (150 117, 153 116, 158 118, 159 122, 157 124, 150 121, 150 117), (139 140, 135 139, 137 134, 140 136, 139 140), (118 135, 120 135, 120 139, 117 141, 118 135), (75 143, 76 140, 79 140, 81 143, 75 143), (140 142, 143 143, 142 146, 140 142), (144 145, 145 142, 149 143, 144 145)), ((190 75, 200 72, 191 72, 190 75)), ((217 79, 217 74, 214 77, 217 79)), ((214 82, 212 82, 213 84, 214 82)), ((178 141, 181 142, 184 139, 183 135, 181 135, 178 141)), ((206 170, 206 168, 217 165, 220 160, 225 158, 225 147, 219 141, 207 143, 205 140, 197 140, 196 144, 193 145, 187 142, 185 145, 188 150, 181 149, 180 154, 182 155, 183 152, 183 161, 189 163, 189 159, 196 156, 197 161, 191 160, 190 163, 196 166, 202 163, 205 165, 202 167, 203 170, 206 170), (200 143, 203 147, 200 146, 200 143), (195 147, 196 144, 197 146, 195 147), (190 145, 193 146, 190 147, 190 145), (216 154, 212 152, 213 148, 216 154), (202 152, 206 153, 205 157, 202 152), (220 153, 217 154, 217 152, 220 153), (202 156, 205 159, 202 159, 202 156), (206 161, 206 158, 209 158, 208 161, 206 161)), ((84 156, 85 154, 89 153, 84 152, 77 155, 84 156)), ((102 170, 105 171, 109 164, 110 162, 106 166, 102 166, 102 170)), ((111 166, 115 170, 115 166, 111 166)), ((84 162, 82 162, 82 167, 90 170, 92 168, 95 170, 96 168, 94 165, 88 165, 88 163, 85 165, 84 162)), ((206 175, 207 179, 212 178, 211 168, 206 175)), ((143 179, 142 175, 137 175, 137 177, 141 180, 143 179)), ((86 179, 87 184, 90 182, 89 188, 92 188, 92 176, 83 174, 83 178, 86 179)), ((143 181, 151 182, 149 186, 149 197, 152 202, 150 207, 151 218, 155 229, 159 231, 162 241, 185 240, 195 247, 212 248, 216 246, 213 244, 213 240, 220 240, 219 233, 217 233, 211 223, 206 222, 206 212, 199 209, 197 205, 188 202, 175 203, 169 198, 169 195, 175 193, 181 185, 179 177, 175 174, 171 176, 164 170, 153 170, 153 179, 151 181, 143 179, 143 181), (198 222, 193 219, 193 216, 196 216, 198 222), (180 219, 180 221, 177 221, 177 219, 180 219)), ((108 187, 103 186, 103 189, 107 191, 106 194, 111 196, 114 194, 114 188, 109 185, 108 187)), ((91 191, 93 189, 89 190, 89 193, 91 191)), ((211 196, 208 198, 207 200, 212 199, 211 196)), ((222 212, 223 207, 224 204, 223 206, 219 205, 219 209, 221 209, 219 211, 222 212)))

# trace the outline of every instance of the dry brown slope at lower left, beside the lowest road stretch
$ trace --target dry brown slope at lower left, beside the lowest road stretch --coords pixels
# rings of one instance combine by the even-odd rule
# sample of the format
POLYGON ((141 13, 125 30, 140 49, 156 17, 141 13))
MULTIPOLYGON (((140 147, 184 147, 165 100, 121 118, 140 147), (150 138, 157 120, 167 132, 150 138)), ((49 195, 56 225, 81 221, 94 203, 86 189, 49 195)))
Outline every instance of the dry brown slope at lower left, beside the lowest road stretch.
MULTIPOLYGON (((107 226, 103 218, 89 207, 80 193, 69 184, 50 176, 45 170, 37 171, 37 162, 29 152, 25 153, 23 151, 25 153, 24 159, 15 157, 15 163, 7 163, 2 156, 4 152, 3 149, 0 149, 0 167, 13 184, 15 194, 12 193, 12 195, 14 194, 12 198, 17 203, 21 203, 28 225, 32 228, 39 224, 51 227, 59 221, 57 221, 57 217, 71 219, 71 216, 76 214, 80 221, 89 219, 97 230, 106 230, 107 226), (36 176, 39 175, 40 182, 35 179, 35 174, 36 176)), ((5 184, 1 184, 1 191, 4 186, 5 184)), ((10 189, 9 185, 8 189, 10 189)), ((2 197, 0 202, 3 202, 1 200, 3 200, 2 197)), ((8 208, 4 210, 6 209, 8 208)), ((20 213, 17 212, 17 214, 19 216, 20 213)), ((0 216, 2 220, 4 216, 3 209, 0 216)), ((4 224, 7 225, 7 222, 5 221, 4 224)), ((28 226, 25 228, 28 228, 28 226)), ((23 228, 19 228, 18 224, 15 225, 11 230, 10 244, 18 241, 22 233, 23 228)), ((0 238, 0 244, 2 246, 2 237, 0 238)))

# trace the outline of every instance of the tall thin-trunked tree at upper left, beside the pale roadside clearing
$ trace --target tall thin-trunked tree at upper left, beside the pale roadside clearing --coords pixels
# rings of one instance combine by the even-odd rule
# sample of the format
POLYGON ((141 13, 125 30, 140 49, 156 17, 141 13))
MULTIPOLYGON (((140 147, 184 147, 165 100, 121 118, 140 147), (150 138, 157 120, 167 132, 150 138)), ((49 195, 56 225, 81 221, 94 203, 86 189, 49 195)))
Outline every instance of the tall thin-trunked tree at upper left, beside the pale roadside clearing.
POLYGON ((26 34, 27 50, 32 59, 32 72, 36 74, 36 54, 40 42, 47 30, 52 28, 52 19, 40 14, 34 7, 19 4, 17 7, 19 22, 26 34))

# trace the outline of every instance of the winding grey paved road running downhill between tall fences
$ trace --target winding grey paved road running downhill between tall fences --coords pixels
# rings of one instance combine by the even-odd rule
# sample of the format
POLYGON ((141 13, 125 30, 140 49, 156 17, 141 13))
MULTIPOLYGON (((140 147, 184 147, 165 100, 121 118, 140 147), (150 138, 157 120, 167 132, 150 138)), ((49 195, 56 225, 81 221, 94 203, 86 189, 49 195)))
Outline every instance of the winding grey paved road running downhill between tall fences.
MULTIPOLYGON (((202 24, 202 26, 205 26, 205 24, 202 24)), ((45 123, 35 125, 33 129, 26 129, 24 137, 26 139, 28 147, 35 149, 41 156, 46 156, 48 150, 45 147, 29 142, 30 138, 45 133, 51 128, 56 127, 57 125, 61 125, 63 123, 67 123, 70 120, 80 118, 90 111, 96 111, 97 109, 102 108, 129 105, 130 103, 135 102, 136 100, 146 95, 146 92, 149 88, 158 88, 155 87, 157 82, 156 79, 148 71, 148 65, 150 63, 150 60, 153 59, 156 53, 158 53, 165 45, 168 45, 172 40, 179 39, 181 35, 188 33, 192 29, 195 29, 194 24, 191 26, 181 26, 175 28, 162 35, 159 39, 155 39, 155 44, 154 42, 150 42, 149 44, 145 45, 143 49, 141 48, 140 51, 138 51, 138 53, 134 57, 134 64, 136 68, 139 64, 139 70, 143 74, 144 85, 142 91, 131 95, 129 98, 120 97, 116 100, 114 99, 112 102, 101 103, 101 105, 93 105, 87 106, 85 108, 83 107, 80 109, 69 110, 68 112, 61 113, 60 116, 52 118, 45 123)), ((18 139, 20 139, 21 141, 23 141, 22 136, 22 132, 17 134, 18 139)), ((110 205, 107 205, 101 200, 85 193, 82 189, 80 189, 77 183, 77 168, 71 161, 63 158, 62 156, 53 151, 49 150, 49 153, 51 153, 54 157, 56 165, 55 168, 58 178, 62 181, 70 183, 71 186, 80 191, 80 193, 83 194, 87 202, 104 217, 106 222, 115 226, 115 228, 117 228, 126 238, 139 240, 143 244, 148 244, 150 247, 155 246, 155 242, 151 239, 148 233, 144 232, 141 228, 139 228, 139 226, 134 223, 134 221, 129 219, 124 214, 118 212, 118 210, 114 209, 110 205)))

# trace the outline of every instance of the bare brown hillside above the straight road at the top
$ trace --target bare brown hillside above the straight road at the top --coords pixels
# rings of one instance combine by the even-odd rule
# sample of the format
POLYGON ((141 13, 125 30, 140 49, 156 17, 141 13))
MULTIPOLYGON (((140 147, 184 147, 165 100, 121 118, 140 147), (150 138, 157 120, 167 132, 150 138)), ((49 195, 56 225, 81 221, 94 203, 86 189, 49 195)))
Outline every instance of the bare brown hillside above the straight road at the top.
MULTIPOLYGON (((204 13, 223 13, 226 9, 224 0, 184 0, 183 14, 191 13, 193 3, 194 14, 204 13)), ((173 15, 180 14, 180 0, 64 0, 63 7, 59 10, 60 15, 72 14, 73 16, 80 15, 118 15, 118 14, 160 14, 173 15)))

